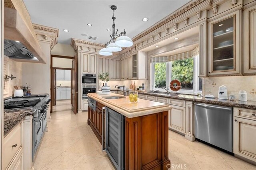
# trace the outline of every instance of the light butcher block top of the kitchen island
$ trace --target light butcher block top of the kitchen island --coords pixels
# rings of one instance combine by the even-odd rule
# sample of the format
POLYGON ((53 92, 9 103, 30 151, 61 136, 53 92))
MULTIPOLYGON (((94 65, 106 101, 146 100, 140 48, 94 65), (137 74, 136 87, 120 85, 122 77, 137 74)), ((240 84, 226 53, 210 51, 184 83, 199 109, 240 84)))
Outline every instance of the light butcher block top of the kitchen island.
POLYGON ((105 99, 107 96, 123 96, 120 94, 101 95, 96 93, 88 93, 88 97, 100 102, 106 107, 109 107, 118 113, 128 117, 138 117, 150 115, 162 111, 168 111, 171 107, 168 104, 154 102, 150 100, 138 99, 137 103, 130 103, 128 96, 120 99, 105 99))

